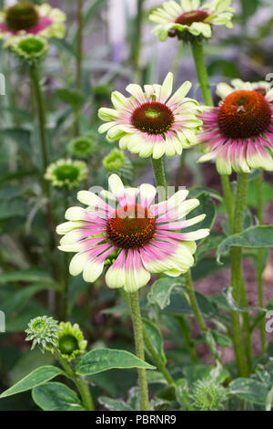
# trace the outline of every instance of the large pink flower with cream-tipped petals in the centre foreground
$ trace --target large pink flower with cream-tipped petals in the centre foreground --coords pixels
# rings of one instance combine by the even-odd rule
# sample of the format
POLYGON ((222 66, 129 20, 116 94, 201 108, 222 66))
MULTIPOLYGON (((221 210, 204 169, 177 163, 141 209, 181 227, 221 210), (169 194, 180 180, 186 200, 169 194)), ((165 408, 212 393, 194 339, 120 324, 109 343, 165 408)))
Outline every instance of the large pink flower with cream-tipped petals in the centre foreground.
POLYGON ((106 267, 109 288, 134 292, 147 285, 151 274, 177 277, 187 272, 194 264, 195 240, 209 234, 207 229, 183 232, 204 219, 205 214, 185 219, 199 201, 185 201, 188 192, 180 190, 167 201, 151 204, 157 194, 151 184, 125 188, 116 174, 108 182, 111 192, 102 191, 101 197, 80 191, 77 199, 87 208, 69 208, 68 222, 57 226, 57 233, 64 235, 59 249, 76 252, 70 274, 83 272, 86 282, 95 282, 106 267))

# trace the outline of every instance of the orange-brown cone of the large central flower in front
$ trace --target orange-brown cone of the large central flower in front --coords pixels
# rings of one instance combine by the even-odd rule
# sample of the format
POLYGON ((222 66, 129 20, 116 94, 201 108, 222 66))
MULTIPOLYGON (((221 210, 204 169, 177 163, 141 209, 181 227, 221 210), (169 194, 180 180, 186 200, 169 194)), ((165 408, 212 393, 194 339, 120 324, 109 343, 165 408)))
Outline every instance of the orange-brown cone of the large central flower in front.
POLYGON ((147 245, 156 231, 153 215, 142 205, 119 207, 108 220, 107 235, 117 247, 134 249, 147 245))

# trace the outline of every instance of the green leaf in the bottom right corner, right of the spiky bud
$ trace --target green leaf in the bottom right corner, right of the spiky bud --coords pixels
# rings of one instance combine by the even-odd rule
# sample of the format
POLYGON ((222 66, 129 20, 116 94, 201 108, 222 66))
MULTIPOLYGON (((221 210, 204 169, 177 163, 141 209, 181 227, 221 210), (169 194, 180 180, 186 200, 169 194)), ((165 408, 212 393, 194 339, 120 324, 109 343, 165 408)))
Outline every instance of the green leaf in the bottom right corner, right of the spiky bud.
POLYGON ((266 405, 268 399, 268 389, 262 382, 248 378, 238 378, 229 384, 229 392, 238 396, 238 398, 266 405))

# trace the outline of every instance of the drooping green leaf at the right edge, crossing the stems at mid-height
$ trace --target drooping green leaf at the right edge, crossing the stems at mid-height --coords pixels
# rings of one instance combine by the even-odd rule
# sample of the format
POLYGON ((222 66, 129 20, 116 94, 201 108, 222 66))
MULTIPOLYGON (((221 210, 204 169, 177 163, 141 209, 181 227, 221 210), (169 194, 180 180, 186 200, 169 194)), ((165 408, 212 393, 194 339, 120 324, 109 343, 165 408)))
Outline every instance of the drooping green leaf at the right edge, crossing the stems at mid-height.
POLYGON ((251 226, 240 234, 229 235, 217 248, 217 262, 227 254, 230 247, 273 247, 273 226, 251 226))

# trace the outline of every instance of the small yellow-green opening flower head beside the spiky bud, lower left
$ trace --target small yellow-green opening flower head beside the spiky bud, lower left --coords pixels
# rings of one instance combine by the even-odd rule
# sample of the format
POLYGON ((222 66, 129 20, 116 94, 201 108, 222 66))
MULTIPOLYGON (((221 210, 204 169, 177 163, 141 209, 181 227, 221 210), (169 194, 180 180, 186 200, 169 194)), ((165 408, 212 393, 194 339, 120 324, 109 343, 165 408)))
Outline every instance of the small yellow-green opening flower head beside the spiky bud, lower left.
POLYGON ((87 341, 77 323, 61 322, 58 331, 58 349, 66 359, 73 361, 76 356, 86 351, 87 341))

